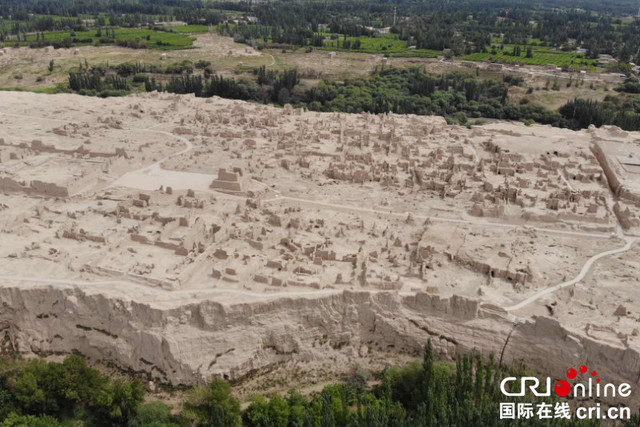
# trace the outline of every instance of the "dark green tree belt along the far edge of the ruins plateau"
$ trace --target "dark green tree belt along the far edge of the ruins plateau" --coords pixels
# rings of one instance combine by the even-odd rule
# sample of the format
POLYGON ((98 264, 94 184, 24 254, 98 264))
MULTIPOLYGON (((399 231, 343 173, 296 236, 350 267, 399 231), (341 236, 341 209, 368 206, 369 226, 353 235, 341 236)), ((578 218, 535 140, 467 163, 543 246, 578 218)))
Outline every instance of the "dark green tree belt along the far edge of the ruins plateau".
MULTIPOLYGON (((164 66, 132 62, 110 67, 81 64, 69 74, 68 88, 103 97, 131 91, 165 91, 278 105, 291 103, 324 112, 440 115, 463 125, 472 119, 493 118, 572 129, 605 124, 640 130, 640 97, 636 95, 608 96, 604 102, 574 100, 559 111, 552 111, 526 98, 517 104, 509 101, 509 87, 524 84, 518 75, 480 80, 459 72, 432 75, 416 67, 386 67, 367 78, 323 81, 304 89, 296 70, 276 72, 263 66, 253 74, 254 79, 221 77, 214 74, 208 61, 185 60, 164 66)), ((636 93, 638 87, 636 79, 628 79, 617 90, 636 93)))

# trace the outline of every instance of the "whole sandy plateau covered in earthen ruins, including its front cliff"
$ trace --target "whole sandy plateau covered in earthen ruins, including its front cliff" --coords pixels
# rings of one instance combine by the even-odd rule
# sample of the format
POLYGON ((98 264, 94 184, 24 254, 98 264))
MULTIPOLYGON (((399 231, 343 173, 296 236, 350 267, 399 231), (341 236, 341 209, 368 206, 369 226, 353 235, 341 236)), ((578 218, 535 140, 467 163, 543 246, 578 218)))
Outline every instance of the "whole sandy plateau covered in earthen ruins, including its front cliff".
POLYGON ((5 352, 193 383, 430 337, 638 384, 638 133, 2 92, 0 190, 5 352))

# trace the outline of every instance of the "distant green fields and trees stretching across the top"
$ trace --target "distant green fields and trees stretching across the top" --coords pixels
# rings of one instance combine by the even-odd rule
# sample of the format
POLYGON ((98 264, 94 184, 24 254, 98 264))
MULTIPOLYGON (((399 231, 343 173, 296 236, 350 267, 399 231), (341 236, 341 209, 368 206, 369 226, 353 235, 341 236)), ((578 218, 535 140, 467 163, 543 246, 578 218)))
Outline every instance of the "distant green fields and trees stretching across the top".
MULTIPOLYGON (((215 26, 237 41, 262 47, 321 49, 593 69, 599 54, 623 63, 640 60, 640 20, 628 0, 578 0, 559 5, 517 0, 462 2, 75 2, 6 0, 0 5, 0 42, 40 46, 121 43, 184 48, 186 32, 215 26), (156 22, 190 25, 156 28, 156 22), (88 34, 128 28, 113 38, 88 34), (73 36, 75 33, 76 36, 73 36), (44 40, 43 40, 44 38, 44 40), (64 44, 62 44, 64 43, 64 44), (516 54, 517 53, 517 54, 516 54)), ((118 32, 117 32, 118 33, 118 32)))

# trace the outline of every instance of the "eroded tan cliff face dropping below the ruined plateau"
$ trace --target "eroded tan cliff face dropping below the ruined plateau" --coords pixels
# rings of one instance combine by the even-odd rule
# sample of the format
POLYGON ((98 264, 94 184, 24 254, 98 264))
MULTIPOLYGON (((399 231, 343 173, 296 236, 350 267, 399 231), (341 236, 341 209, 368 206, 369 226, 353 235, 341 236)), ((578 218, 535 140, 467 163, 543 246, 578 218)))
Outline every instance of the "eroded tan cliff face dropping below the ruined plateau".
POLYGON ((637 386, 640 370, 634 349, 595 341, 552 318, 514 326, 497 309, 456 296, 345 291, 167 308, 77 287, 3 287, 0 305, 5 352, 79 351, 174 384, 235 379, 287 361, 333 360, 340 369, 375 349, 418 355, 428 338, 443 358, 494 353, 554 378, 587 363, 607 381, 637 386))

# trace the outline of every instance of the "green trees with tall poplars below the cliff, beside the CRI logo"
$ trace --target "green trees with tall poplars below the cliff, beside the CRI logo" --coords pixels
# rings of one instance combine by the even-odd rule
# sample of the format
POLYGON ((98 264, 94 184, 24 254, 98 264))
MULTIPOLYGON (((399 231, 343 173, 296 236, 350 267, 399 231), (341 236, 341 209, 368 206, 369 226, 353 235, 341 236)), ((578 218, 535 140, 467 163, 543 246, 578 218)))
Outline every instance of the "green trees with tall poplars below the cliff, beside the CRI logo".
MULTIPOLYGON (((469 354, 456 364, 438 362, 431 343, 423 359, 392 367, 373 389, 352 382, 326 386, 309 398, 293 391, 255 396, 245 411, 246 426, 480 426, 499 424, 499 389, 504 372, 489 358, 469 354)), ((520 400, 522 401, 522 400, 520 400)), ((542 420, 537 425, 580 425, 579 421, 542 420)), ((588 424, 588 423, 586 423, 588 424)), ((523 423, 522 425, 533 425, 523 423)))

